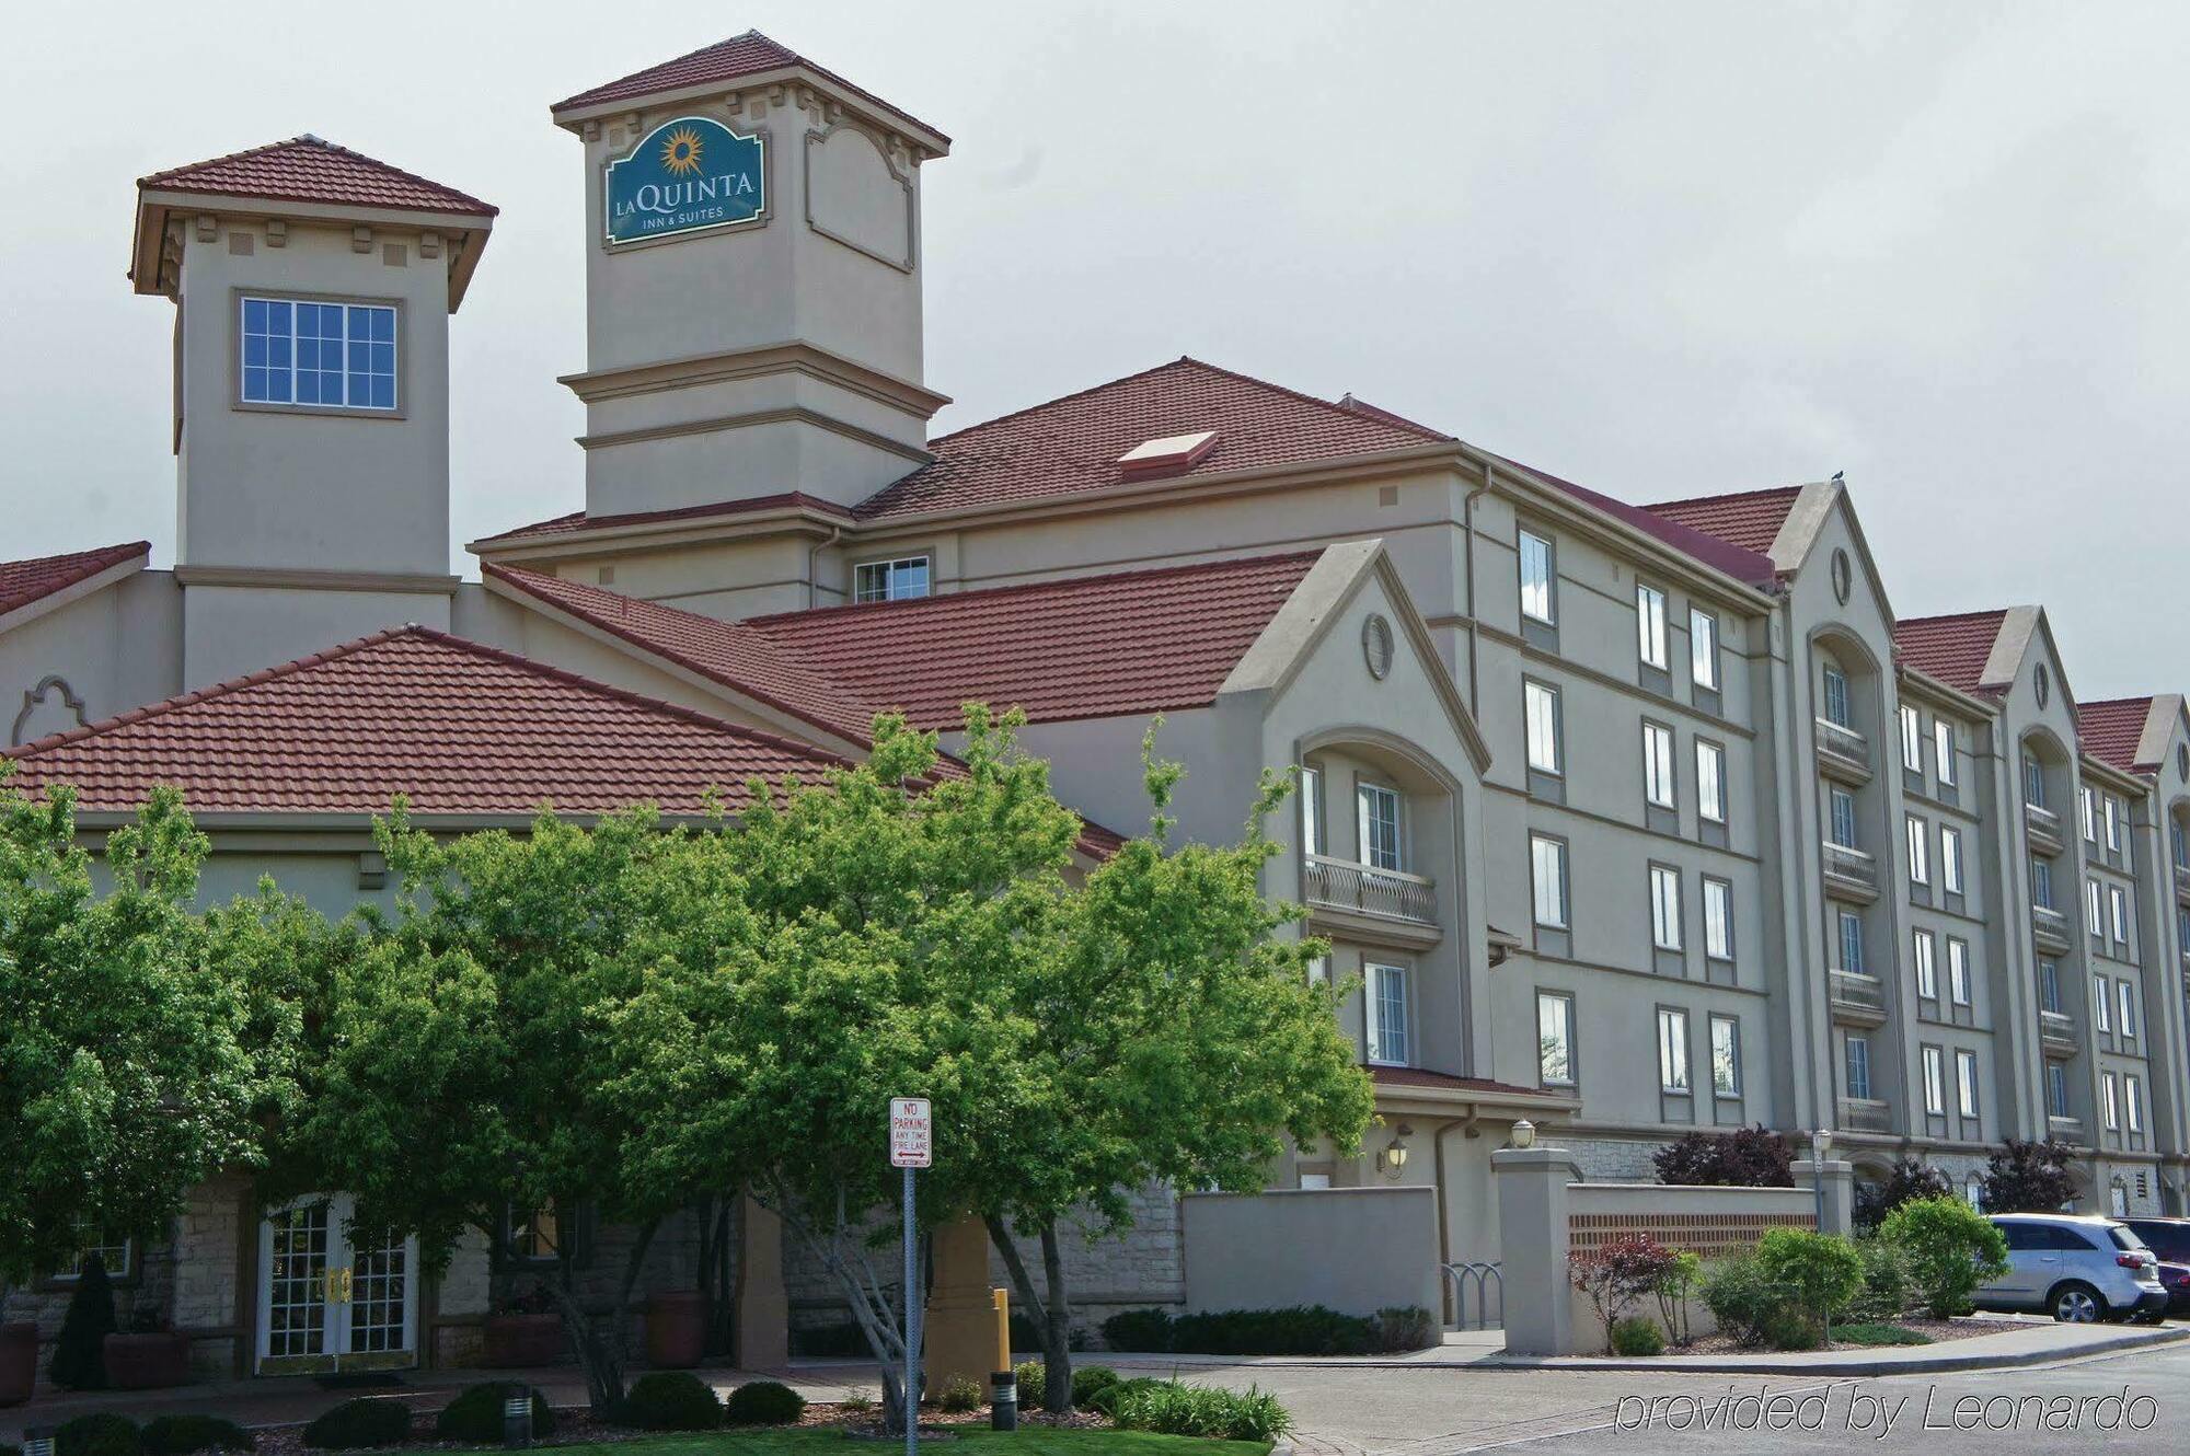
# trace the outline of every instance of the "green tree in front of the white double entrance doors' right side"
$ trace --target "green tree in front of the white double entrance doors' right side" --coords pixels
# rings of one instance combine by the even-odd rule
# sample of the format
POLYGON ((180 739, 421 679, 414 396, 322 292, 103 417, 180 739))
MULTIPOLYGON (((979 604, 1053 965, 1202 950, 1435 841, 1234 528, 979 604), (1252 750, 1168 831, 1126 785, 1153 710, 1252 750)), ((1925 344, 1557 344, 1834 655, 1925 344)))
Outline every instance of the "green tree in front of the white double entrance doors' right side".
POLYGON ((416 1235, 431 1270, 466 1230, 506 1252, 512 1213, 550 1204, 633 1226, 604 1322, 567 1239, 541 1276, 609 1410, 655 1233, 723 1187, 712 1160, 664 1163, 635 1132, 679 1110, 629 1093, 631 1007, 653 977, 699 974, 742 937, 740 895, 650 810, 436 841, 399 804, 377 836, 399 904, 331 933, 302 987, 311 1068, 269 1198, 348 1189, 357 1230, 416 1235))

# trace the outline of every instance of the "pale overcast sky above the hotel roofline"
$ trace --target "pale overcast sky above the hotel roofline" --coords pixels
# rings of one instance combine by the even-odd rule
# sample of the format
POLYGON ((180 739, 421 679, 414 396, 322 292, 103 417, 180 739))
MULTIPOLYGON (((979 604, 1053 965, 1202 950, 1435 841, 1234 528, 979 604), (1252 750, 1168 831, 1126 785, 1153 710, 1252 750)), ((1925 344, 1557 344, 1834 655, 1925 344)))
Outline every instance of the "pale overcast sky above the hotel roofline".
POLYGON ((585 177, 548 103, 758 26, 955 138, 937 429, 1191 353, 1632 501, 1846 471, 1901 615, 2037 600, 2083 698, 2190 690, 2190 7, 96 13, 0 20, 0 558, 171 561, 131 182, 298 131, 502 208, 453 541, 574 510, 585 177))

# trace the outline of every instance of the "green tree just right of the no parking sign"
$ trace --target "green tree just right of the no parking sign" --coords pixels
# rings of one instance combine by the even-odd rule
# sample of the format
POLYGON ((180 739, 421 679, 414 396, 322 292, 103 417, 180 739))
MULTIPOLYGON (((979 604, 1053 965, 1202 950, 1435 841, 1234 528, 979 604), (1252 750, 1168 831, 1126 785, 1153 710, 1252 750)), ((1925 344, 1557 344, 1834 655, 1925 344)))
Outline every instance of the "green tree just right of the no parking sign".
POLYGON ((1369 1077, 1338 1031, 1347 987, 1310 985, 1321 941, 1283 937, 1299 911, 1261 893, 1277 854, 1261 825, 1290 779, 1266 777, 1237 845, 1169 845, 1176 764, 1143 742, 1150 832, 1062 895, 1053 952, 1010 998, 1031 1027, 1034 1106, 981 1147, 975 1211, 1042 1333, 1045 1406, 1071 1410, 1071 1287, 1060 1228, 1132 1222, 1148 1185, 1264 1187, 1283 1139, 1353 1149, 1369 1077), (1036 1285, 1014 1237, 1042 1257, 1036 1285))

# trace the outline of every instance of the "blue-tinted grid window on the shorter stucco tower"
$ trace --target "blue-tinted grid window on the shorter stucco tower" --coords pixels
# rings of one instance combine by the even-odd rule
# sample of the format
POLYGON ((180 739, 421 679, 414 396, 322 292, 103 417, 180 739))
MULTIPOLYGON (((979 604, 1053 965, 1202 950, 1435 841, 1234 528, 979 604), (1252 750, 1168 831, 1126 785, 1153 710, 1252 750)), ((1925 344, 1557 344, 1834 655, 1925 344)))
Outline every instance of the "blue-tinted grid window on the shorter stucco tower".
POLYGON ((390 304, 243 300, 243 398, 254 405, 396 407, 390 304))

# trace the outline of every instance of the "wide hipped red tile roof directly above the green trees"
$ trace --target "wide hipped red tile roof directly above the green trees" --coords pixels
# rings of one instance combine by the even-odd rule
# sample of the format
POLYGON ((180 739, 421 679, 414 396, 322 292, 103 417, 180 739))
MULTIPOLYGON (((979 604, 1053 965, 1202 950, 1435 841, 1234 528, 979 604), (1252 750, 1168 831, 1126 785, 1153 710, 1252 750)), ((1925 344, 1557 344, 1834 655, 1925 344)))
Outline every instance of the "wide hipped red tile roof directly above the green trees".
POLYGON ((13 784, 127 812, 175 784, 201 814, 731 808, 747 779, 841 758, 420 626, 394 628, 13 751, 13 784))

